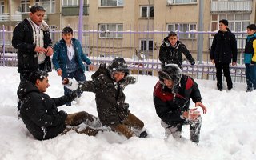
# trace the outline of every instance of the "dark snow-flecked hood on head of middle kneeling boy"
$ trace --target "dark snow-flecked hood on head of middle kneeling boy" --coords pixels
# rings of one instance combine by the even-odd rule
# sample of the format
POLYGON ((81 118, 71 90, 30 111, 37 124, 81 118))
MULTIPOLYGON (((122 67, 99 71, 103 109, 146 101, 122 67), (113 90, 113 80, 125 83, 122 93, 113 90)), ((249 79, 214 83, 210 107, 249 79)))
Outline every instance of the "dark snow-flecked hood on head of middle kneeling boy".
POLYGON ((129 74, 129 68, 123 58, 114 58, 113 61, 110 62, 108 70, 110 70, 110 74, 114 72, 124 72, 126 75, 129 74))

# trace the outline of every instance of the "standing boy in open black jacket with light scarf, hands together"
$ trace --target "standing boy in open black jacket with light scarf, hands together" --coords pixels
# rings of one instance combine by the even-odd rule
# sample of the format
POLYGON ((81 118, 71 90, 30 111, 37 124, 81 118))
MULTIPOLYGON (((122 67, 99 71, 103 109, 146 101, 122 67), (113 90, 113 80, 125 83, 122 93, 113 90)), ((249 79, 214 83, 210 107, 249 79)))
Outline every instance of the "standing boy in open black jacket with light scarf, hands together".
POLYGON ((18 73, 28 78, 34 70, 51 71, 50 56, 54 53, 49 26, 43 21, 46 10, 42 6, 30 8, 30 18, 14 28, 12 45, 18 49, 18 73))

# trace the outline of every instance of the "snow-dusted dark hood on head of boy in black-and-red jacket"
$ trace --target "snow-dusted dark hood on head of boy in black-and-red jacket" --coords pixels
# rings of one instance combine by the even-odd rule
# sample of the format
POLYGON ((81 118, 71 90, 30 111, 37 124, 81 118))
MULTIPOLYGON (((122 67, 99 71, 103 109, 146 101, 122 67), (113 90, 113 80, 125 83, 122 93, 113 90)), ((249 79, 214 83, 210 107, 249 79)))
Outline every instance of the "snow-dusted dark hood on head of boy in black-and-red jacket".
POLYGON ((158 71, 159 80, 163 82, 163 78, 170 79, 177 86, 182 78, 182 70, 176 64, 167 64, 158 71))

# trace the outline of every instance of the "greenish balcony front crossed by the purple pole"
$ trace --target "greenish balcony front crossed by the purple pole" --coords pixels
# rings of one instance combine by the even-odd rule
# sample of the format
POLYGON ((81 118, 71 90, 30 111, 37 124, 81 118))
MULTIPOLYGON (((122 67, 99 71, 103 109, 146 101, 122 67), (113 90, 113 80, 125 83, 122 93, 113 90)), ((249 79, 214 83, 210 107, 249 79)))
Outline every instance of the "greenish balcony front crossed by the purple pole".
MULTIPOLYGON (((62 16, 78 16, 79 6, 62 6, 62 16)), ((89 5, 83 6, 82 15, 89 15, 89 5)))

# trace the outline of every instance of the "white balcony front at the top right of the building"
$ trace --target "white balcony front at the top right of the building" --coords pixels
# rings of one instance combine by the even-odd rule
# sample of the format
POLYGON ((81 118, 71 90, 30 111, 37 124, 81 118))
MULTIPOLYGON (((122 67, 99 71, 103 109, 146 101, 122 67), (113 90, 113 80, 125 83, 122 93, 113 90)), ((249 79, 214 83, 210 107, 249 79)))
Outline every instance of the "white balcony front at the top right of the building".
POLYGON ((210 2, 210 12, 248 12, 252 11, 252 0, 247 1, 214 1, 210 2))

